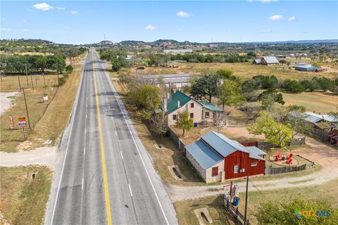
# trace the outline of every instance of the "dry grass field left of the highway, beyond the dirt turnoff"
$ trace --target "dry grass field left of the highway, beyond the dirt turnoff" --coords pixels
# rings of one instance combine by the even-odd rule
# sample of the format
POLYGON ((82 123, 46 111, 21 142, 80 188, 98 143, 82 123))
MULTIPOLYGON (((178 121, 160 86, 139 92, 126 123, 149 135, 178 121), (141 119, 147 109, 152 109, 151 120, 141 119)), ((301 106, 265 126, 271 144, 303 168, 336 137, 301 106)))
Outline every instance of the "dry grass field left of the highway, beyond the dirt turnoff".
MULTIPOLYGON (((67 82, 59 88, 55 86, 57 84, 56 75, 46 75, 46 89, 44 89, 42 76, 32 76, 33 82, 35 81, 35 76, 39 78, 37 79, 37 85, 34 83, 34 91, 32 89, 25 89, 27 108, 32 127, 32 131, 30 131, 27 124, 25 131, 27 131, 27 140, 32 142, 32 148, 41 146, 44 141, 51 137, 56 139, 59 134, 61 134, 65 124, 67 124, 70 111, 73 107, 77 86, 80 81, 82 65, 80 65, 79 62, 82 57, 83 56, 77 57, 77 64, 73 65, 75 67, 74 72, 69 76, 67 82), (44 94, 49 96, 49 100, 46 102, 43 100, 44 94)), ((25 80, 23 79, 25 76, 20 77, 22 80, 25 80)), ((15 91, 16 86, 18 86, 15 82, 18 82, 18 77, 4 77, 3 82, 1 82, 1 87, 4 87, 6 91, 15 91), (13 82, 13 84, 11 84, 11 82, 13 82)), ((21 84, 23 85, 23 83, 21 84)), ((18 126, 18 117, 26 117, 27 121, 23 91, 20 92, 20 95, 14 101, 13 107, 0 117, 0 150, 16 152, 18 151, 16 146, 24 141, 23 129, 18 126), (14 119, 15 129, 10 129, 8 122, 10 115, 14 119)))

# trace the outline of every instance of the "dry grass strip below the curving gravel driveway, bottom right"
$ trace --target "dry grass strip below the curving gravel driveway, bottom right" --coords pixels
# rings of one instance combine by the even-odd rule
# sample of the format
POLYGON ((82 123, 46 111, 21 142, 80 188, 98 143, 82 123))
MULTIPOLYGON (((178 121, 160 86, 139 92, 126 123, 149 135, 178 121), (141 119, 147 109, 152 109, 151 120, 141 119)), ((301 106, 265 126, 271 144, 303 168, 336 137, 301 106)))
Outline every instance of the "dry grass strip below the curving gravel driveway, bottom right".
MULTIPOLYGON (((254 215, 258 212, 260 206, 263 203, 267 203, 269 201, 278 203, 286 201, 289 198, 295 198, 296 196, 300 196, 301 198, 308 198, 318 202, 326 202, 332 205, 332 207, 337 208, 337 186, 338 180, 335 179, 318 186, 284 188, 274 191, 249 191, 248 214, 250 221, 256 221, 254 215)), ((241 198, 241 201, 239 203, 239 210, 241 212, 244 212, 245 193, 239 193, 239 198, 241 198)), ((256 222, 253 224, 256 224, 256 222)))

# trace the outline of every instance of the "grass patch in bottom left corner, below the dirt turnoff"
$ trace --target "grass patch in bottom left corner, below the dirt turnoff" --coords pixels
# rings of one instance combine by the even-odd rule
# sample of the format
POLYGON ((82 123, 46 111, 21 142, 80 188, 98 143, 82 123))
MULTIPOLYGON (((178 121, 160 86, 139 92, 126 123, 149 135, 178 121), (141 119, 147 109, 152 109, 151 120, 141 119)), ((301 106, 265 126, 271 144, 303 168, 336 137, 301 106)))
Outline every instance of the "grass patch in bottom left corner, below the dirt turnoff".
POLYGON ((42 224, 51 191, 51 169, 0 167, 0 174, 0 224, 42 224))

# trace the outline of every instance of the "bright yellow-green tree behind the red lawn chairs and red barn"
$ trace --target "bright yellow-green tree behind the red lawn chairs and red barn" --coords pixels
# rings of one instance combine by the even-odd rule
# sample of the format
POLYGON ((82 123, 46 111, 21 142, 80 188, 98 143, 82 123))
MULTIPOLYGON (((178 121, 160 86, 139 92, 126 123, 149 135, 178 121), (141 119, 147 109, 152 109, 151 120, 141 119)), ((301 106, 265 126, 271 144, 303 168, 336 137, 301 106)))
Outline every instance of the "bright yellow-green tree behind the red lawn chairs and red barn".
POLYGON ((273 146, 284 147, 292 139, 291 125, 275 122, 273 116, 266 111, 262 111, 256 123, 247 129, 251 134, 263 134, 273 146))

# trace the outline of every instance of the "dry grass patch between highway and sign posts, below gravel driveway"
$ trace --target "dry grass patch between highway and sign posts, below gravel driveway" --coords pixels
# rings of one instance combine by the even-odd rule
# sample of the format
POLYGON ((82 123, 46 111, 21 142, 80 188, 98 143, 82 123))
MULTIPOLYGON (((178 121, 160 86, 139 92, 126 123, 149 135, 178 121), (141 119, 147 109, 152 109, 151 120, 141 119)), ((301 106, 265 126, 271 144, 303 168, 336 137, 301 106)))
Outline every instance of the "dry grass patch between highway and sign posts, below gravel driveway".
POLYGON ((174 207, 177 213, 178 223, 181 225, 199 224, 194 210, 204 207, 208 209, 211 219, 213 219, 213 224, 235 224, 234 221, 232 221, 231 215, 225 211, 223 195, 215 195, 196 200, 185 200, 174 203, 174 207))

